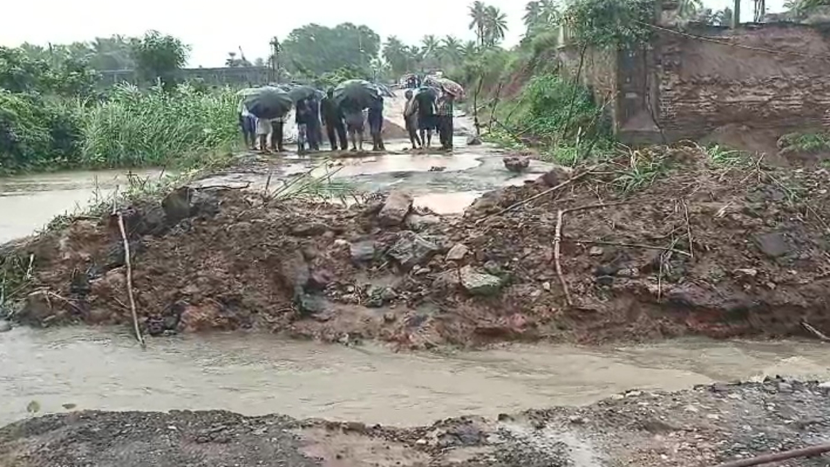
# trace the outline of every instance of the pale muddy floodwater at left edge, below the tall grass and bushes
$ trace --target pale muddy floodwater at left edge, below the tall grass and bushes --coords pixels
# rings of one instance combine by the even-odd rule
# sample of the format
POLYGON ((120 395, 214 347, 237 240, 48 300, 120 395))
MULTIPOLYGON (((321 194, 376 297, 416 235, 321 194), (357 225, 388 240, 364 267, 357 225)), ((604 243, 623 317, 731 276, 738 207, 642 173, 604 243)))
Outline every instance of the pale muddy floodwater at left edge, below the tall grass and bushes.
MULTIPOLYGON (((129 170, 95 170, 0 178, 0 243, 32 234, 58 214, 85 207, 97 193, 105 199, 126 186, 129 170), (11 215, 13 214, 13 215, 11 215)), ((161 170, 132 170, 158 177, 161 170)))

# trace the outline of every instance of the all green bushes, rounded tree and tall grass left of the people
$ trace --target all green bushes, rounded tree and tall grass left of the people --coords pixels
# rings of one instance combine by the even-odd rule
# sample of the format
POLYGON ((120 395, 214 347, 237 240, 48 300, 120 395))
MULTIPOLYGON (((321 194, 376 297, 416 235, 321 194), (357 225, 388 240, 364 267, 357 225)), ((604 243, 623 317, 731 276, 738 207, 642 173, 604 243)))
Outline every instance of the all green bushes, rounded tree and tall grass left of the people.
POLYGON ((0 47, 0 175, 182 165, 233 144, 238 99, 176 83, 188 53, 182 42, 151 31, 106 43, 126 44, 139 76, 153 84, 99 92, 98 73, 69 53, 83 47, 53 47, 48 56, 0 47))

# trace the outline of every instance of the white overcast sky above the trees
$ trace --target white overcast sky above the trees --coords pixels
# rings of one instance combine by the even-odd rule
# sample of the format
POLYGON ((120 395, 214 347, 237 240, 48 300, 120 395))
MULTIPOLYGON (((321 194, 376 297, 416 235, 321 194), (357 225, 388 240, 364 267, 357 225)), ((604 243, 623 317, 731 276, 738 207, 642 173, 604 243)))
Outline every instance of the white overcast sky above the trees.
MULTIPOLYGON (((780 11, 784 0, 768 0, 770 12, 780 11)), ((286 37, 295 27, 309 22, 334 26, 340 22, 365 24, 383 39, 389 35, 415 43, 426 34, 452 34, 473 39, 467 29, 471 0, 275 0, 227 2, 222 0, 24 0, 3 2, 4 21, 0 45, 22 42, 46 45, 89 41, 113 34, 139 36, 149 29, 172 34, 190 44, 189 66, 222 66, 227 52, 242 47, 246 57, 267 57, 271 37, 286 37), (242 26, 244 25, 244 27, 242 26)), ((507 13, 506 45, 518 42, 524 27, 525 0, 487 0, 507 13)), ((731 0, 705 0, 720 9, 731 0)), ((752 2, 742 1, 741 17, 752 16, 752 2)))

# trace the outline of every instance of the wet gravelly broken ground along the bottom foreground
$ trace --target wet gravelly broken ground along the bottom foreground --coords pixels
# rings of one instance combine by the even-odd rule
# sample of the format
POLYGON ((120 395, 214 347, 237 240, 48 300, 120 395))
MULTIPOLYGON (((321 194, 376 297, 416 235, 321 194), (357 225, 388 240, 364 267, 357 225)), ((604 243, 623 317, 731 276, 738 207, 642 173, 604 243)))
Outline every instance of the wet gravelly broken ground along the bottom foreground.
MULTIPOLYGON (((9 465, 637 465, 709 467, 800 449, 830 435, 830 383, 772 378, 590 406, 465 416, 429 426, 246 417, 224 411, 46 415, 0 428, 9 465)), ((818 467, 823 457, 783 465, 818 467)))

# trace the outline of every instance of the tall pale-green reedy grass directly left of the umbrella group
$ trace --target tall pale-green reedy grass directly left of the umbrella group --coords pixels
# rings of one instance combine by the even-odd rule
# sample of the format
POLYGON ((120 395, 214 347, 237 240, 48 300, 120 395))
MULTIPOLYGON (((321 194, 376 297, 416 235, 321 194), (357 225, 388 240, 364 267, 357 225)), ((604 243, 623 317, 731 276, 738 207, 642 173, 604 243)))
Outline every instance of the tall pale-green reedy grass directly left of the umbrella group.
POLYGON ((105 101, 83 111, 81 163, 165 165, 232 145, 238 135, 237 103, 229 90, 203 93, 183 85, 168 93, 116 86, 105 101))

